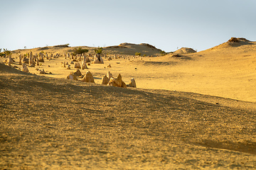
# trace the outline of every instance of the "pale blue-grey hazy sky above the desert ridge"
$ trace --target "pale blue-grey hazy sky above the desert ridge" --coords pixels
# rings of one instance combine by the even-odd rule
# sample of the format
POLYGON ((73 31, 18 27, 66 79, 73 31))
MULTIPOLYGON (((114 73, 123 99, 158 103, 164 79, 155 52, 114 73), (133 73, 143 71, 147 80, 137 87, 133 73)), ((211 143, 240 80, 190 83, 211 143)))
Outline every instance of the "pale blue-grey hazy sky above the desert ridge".
POLYGON ((255 0, 0 0, 0 48, 149 43, 166 52, 256 40, 255 0))

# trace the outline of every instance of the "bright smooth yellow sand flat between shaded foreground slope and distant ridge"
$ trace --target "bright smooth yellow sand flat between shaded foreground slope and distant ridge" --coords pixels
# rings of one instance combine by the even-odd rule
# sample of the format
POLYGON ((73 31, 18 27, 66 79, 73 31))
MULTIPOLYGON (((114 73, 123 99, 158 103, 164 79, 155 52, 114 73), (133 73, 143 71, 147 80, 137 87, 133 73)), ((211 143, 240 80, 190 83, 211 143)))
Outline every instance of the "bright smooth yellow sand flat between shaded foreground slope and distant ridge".
MULTIPOLYGON (((223 46, 225 47, 225 43, 223 46)), ((87 70, 92 72, 97 84, 101 83, 107 72, 111 72, 114 77, 121 74, 127 84, 134 77, 138 88, 188 91, 255 102, 256 43, 251 42, 242 47, 224 47, 184 57, 166 55, 105 60, 105 64, 91 64, 87 70), (111 68, 107 68, 109 64, 111 68)), ((3 60, 0 59, 0 62, 3 60)), ((75 72, 75 68, 74 64, 71 64, 71 70, 61 67, 61 62, 64 61, 70 63, 70 60, 60 57, 42 63, 41 67, 28 69, 35 74, 38 74, 36 68, 44 69, 53 73, 45 74, 46 77, 65 79, 70 72, 75 72)), ((82 74, 87 70, 81 70, 82 74)))

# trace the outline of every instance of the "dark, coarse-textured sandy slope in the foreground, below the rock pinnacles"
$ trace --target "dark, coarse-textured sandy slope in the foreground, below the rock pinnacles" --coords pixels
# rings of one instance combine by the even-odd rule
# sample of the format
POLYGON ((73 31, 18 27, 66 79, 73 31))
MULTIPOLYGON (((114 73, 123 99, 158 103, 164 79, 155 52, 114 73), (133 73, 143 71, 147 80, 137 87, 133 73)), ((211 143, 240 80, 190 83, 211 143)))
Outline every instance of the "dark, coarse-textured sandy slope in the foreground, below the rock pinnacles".
POLYGON ((0 95, 1 169, 256 166, 255 103, 60 81, 4 64, 0 95))

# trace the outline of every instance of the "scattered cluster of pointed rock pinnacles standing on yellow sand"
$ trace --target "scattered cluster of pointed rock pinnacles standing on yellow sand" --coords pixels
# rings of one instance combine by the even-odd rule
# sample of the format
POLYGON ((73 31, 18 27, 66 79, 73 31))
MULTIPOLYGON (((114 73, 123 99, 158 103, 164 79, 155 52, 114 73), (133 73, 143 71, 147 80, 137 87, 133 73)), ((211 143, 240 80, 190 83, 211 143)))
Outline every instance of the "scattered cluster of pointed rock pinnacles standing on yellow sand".
MULTIPOLYGON (((70 56, 70 54, 65 54, 65 59, 68 57, 70 60, 70 64, 74 64, 74 68, 77 68, 76 72, 70 73, 67 77, 67 79, 73 79, 73 80, 78 80, 78 77, 81 77, 81 81, 89 82, 89 83, 95 83, 94 78, 92 76, 92 73, 90 71, 87 71, 85 75, 82 75, 79 69, 88 69, 87 64, 90 64, 90 59, 89 57, 85 55, 76 55, 76 56, 70 56), (78 61, 82 60, 82 67, 80 66, 80 63, 78 61), (75 63, 74 63, 75 62, 75 63)), ((48 56, 48 53, 44 54, 43 52, 40 52, 39 55, 33 55, 32 52, 26 54, 26 55, 19 55, 19 64, 22 65, 21 71, 23 72, 29 72, 28 67, 35 67, 36 65, 39 66, 39 62, 44 62, 44 58, 46 60, 51 60, 52 58, 57 58, 60 57, 59 54, 56 54, 53 56, 51 54, 48 56)), ((117 58, 117 55, 114 56, 114 58, 117 58)), ((108 59, 110 60, 110 59, 108 59)), ((6 60, 6 63, 11 66, 11 64, 14 64, 14 59, 9 56, 6 60)), ((97 54, 94 57, 94 60, 92 62, 93 64, 104 64, 102 57, 97 54)), ((62 67, 67 67, 67 69, 70 69, 70 64, 68 62, 62 62, 62 67)), ((88 64, 88 65, 89 65, 88 64)), ((110 65, 107 67, 111 67, 110 65)), ((37 69, 40 74, 46 74, 46 72, 43 69, 37 69)), ((125 84, 124 81, 122 81, 122 76, 121 74, 118 75, 117 78, 114 78, 110 72, 107 73, 104 77, 102 77, 102 83, 107 86, 117 86, 117 87, 122 87, 122 88, 127 88, 127 86, 130 87, 136 87, 136 83, 134 78, 131 79, 131 82, 129 84, 125 84)))

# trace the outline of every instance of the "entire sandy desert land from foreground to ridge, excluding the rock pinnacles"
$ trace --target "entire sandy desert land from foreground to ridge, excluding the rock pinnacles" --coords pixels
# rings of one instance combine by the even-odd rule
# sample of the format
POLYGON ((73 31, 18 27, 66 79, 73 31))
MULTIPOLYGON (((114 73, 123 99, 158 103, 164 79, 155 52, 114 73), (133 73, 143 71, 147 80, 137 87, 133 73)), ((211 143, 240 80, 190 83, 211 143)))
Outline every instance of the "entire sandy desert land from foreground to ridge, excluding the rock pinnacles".
POLYGON ((1 169, 256 169, 256 42, 164 56, 144 43, 103 47, 104 64, 80 69, 95 84, 67 79, 75 48, 14 50, 11 67, 0 58, 1 169), (59 56, 21 72, 30 52, 59 56), (137 88, 102 85, 107 72, 137 88))

